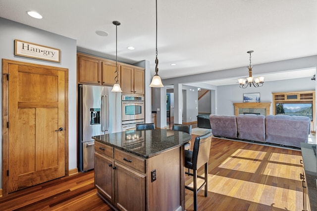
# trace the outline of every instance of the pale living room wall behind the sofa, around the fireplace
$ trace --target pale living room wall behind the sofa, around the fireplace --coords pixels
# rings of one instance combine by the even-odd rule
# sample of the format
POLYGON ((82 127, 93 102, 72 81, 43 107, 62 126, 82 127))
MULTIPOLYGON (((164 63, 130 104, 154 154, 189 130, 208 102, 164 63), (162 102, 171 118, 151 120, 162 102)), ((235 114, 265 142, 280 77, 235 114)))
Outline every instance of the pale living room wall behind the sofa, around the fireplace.
MULTIPOLYGON (((281 81, 264 82, 263 87, 239 88, 239 85, 228 85, 217 87, 217 114, 234 115, 233 103, 243 103, 243 93, 260 93, 262 103, 272 103, 272 93, 293 92, 293 91, 312 91, 315 90, 316 81, 309 78, 298 78, 281 81)), ((270 106, 270 114, 272 114, 270 106)))

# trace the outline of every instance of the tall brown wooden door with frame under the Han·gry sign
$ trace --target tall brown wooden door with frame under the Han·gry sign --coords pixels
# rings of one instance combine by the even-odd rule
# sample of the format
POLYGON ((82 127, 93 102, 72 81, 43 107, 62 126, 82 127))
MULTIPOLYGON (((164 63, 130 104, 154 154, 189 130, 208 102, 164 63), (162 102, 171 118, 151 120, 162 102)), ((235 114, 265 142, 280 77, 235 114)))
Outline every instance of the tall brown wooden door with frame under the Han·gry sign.
POLYGON ((65 175, 68 70, 5 59, 2 63, 2 175, 7 194, 65 175))

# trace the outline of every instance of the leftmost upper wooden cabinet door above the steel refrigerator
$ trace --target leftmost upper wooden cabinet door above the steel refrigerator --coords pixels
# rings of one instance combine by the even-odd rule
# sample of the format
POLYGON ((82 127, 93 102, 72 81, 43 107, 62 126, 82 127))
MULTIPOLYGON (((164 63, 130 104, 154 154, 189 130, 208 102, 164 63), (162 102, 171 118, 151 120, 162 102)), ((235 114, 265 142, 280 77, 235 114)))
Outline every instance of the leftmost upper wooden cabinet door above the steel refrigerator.
POLYGON ((101 84, 100 60, 85 56, 78 57, 78 83, 101 84))

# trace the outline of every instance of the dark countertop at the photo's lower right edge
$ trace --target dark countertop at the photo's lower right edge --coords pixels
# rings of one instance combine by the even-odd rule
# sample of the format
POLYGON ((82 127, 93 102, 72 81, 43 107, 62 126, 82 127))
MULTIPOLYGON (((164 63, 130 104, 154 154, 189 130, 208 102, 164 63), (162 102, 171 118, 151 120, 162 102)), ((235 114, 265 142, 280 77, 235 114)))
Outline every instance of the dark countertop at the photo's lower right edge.
POLYGON ((317 211, 317 156, 316 144, 301 143, 304 161, 305 180, 308 188, 308 198, 312 211, 317 211))

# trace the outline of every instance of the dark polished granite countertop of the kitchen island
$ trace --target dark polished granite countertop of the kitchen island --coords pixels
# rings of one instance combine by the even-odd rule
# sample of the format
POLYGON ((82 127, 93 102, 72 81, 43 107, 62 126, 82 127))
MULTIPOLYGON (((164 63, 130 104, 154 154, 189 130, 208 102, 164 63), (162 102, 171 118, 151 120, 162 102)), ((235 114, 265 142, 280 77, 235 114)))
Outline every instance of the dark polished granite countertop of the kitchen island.
POLYGON ((142 158, 151 158, 164 151, 185 145, 191 140, 188 133, 166 129, 127 130, 92 138, 142 158))

